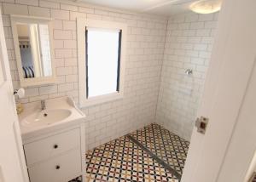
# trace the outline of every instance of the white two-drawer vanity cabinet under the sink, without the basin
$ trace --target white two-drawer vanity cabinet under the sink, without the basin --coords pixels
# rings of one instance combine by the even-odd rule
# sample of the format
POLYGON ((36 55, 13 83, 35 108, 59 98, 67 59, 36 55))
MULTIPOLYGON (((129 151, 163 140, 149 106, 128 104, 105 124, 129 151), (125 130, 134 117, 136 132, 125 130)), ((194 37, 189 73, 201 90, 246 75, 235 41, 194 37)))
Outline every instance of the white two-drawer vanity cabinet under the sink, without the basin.
POLYGON ((84 124, 44 134, 24 142, 31 182, 68 182, 84 179, 84 124))

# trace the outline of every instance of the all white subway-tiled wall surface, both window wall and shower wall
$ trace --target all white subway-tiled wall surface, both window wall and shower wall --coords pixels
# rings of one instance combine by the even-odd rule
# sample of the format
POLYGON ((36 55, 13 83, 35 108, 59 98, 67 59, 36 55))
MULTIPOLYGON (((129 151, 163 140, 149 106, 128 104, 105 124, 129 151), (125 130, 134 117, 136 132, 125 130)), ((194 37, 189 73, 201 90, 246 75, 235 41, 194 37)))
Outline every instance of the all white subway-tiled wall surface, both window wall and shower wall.
POLYGON ((218 14, 181 14, 167 20, 156 15, 65 2, 0 0, 15 88, 20 87, 20 82, 9 14, 54 18, 57 82, 26 88, 26 98, 20 101, 28 103, 68 95, 78 104, 76 18, 125 22, 128 25, 125 97, 82 108, 87 115, 86 149, 149 122, 159 122, 189 139, 201 100, 218 14), (186 69, 193 70, 193 77, 184 74, 186 69))

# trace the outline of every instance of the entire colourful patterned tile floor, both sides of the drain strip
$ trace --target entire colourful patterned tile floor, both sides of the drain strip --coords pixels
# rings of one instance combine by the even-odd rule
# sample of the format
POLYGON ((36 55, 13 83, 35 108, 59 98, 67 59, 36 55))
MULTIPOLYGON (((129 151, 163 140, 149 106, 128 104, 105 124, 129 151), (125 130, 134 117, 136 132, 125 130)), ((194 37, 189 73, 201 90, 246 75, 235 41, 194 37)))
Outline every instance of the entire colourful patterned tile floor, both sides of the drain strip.
POLYGON ((171 181, 183 173, 189 142, 153 123, 86 153, 86 181, 171 181))

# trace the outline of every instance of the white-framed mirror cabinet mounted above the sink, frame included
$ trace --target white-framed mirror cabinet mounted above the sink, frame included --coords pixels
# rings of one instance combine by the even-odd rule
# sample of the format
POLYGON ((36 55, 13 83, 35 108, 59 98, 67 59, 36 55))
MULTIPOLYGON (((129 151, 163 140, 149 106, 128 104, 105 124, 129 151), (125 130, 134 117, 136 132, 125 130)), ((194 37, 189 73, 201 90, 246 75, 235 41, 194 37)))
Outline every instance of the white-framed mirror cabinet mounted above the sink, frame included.
POLYGON ((52 20, 11 15, 20 86, 55 82, 52 20))

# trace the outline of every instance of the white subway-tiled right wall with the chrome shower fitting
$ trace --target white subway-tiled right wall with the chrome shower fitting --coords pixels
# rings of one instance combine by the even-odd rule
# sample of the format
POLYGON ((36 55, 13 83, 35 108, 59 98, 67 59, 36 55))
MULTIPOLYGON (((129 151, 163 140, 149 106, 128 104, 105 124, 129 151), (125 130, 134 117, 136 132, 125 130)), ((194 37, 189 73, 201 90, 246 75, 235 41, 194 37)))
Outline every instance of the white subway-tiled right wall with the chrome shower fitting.
POLYGON ((212 52, 217 14, 181 14, 168 20, 156 122, 190 139, 212 52), (193 70, 193 76, 185 74, 193 70))

